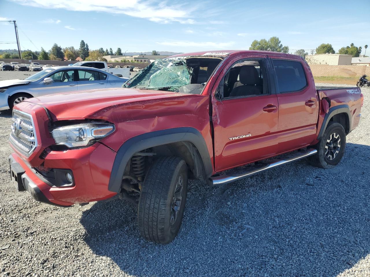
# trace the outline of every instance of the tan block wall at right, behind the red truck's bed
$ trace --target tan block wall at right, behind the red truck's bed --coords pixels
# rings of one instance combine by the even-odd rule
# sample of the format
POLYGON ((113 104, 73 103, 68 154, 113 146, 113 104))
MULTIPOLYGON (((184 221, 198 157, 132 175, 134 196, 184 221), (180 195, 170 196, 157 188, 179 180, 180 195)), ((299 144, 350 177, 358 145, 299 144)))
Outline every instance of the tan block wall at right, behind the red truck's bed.
POLYGON ((316 76, 361 77, 364 74, 370 76, 370 66, 364 65, 310 64, 310 68, 314 77, 316 76))

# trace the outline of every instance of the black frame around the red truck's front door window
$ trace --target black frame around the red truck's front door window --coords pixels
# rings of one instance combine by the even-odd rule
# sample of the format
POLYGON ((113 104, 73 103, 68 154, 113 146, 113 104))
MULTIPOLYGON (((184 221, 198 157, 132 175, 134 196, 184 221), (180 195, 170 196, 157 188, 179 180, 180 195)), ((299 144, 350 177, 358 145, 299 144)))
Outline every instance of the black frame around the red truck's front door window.
MULTIPOLYGON (((220 62, 221 64, 221 62, 220 62)), ((216 70, 216 69, 215 69, 216 70)), ((224 100, 231 100, 231 99, 242 99, 242 98, 252 98, 252 97, 258 97, 258 96, 267 96, 267 95, 272 95, 272 94, 275 94, 272 90, 272 85, 271 85, 271 74, 269 73, 269 70, 268 70, 268 61, 267 61, 267 58, 266 57, 248 57, 248 58, 243 58, 243 59, 238 59, 237 61, 233 62, 228 70, 226 71, 225 75, 222 77, 220 83, 218 84, 218 88, 216 89, 217 90, 220 90, 221 91, 221 86, 222 86, 222 95, 221 95, 221 100, 224 101, 224 100), (267 85, 267 91, 268 93, 263 93, 263 94, 260 94, 260 95, 242 95, 242 96, 228 96, 228 97, 224 97, 223 96, 223 86, 225 85, 225 78, 226 78, 226 75, 228 75, 228 73, 230 72, 231 68, 235 65, 235 64, 238 64, 239 62, 241 61, 248 61, 248 60, 254 60, 254 61, 262 61, 262 64, 263 64, 263 68, 264 68, 264 72, 265 73, 263 76, 266 76, 267 77, 267 81, 266 81, 266 85, 267 85)), ((262 86, 262 89, 263 89, 263 86, 262 86)))

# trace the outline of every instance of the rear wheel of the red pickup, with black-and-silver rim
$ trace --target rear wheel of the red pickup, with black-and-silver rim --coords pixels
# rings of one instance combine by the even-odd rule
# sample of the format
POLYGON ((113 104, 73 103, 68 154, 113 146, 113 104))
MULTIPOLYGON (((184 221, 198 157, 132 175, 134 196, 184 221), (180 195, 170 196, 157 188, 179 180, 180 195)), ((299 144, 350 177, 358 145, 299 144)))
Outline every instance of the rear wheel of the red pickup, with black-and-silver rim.
POLYGON ((315 148, 317 153, 308 157, 311 165, 321 168, 335 167, 343 157, 346 147, 346 132, 342 124, 330 122, 315 148))

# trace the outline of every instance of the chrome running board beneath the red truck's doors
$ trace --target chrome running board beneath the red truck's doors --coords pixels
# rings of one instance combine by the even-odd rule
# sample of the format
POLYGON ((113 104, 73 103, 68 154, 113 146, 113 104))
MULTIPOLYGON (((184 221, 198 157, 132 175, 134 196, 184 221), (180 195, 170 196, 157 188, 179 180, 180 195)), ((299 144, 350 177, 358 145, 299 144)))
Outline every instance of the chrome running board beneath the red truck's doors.
POLYGON ((266 163, 257 163, 255 165, 251 165, 245 168, 241 168, 238 170, 232 170, 228 172, 227 174, 219 175, 211 177, 210 185, 216 186, 216 185, 224 185, 231 182, 238 181, 240 179, 252 176, 256 173, 268 170, 270 168, 278 167, 283 164, 291 163, 293 161, 297 161, 303 158, 306 158, 308 156, 314 155, 317 153, 316 149, 307 149, 303 151, 297 151, 294 153, 289 153, 281 158, 274 159, 272 161, 268 161, 266 163))

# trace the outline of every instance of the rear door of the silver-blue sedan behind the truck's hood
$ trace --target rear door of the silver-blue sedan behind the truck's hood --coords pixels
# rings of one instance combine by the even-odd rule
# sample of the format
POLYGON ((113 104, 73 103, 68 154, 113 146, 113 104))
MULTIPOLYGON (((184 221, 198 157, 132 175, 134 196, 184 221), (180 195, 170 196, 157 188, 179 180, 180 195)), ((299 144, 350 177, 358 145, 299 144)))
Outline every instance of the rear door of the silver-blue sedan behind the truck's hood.
POLYGON ((104 89, 107 86, 107 74, 93 69, 78 69, 78 78, 78 90, 104 89))

